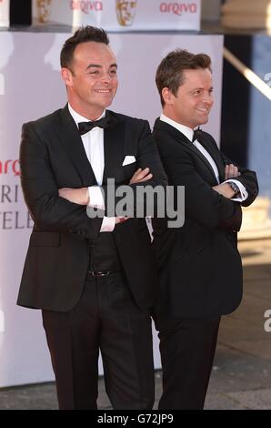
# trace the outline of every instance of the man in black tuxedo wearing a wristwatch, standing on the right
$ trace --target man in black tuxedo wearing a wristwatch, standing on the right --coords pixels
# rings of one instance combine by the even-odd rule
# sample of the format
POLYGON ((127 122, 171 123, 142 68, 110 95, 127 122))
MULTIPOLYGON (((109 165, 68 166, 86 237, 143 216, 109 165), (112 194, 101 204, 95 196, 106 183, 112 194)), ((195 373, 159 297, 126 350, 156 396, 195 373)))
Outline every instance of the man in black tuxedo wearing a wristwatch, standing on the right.
POLYGON ((154 247, 162 296, 156 305, 163 366, 160 409, 202 409, 216 350, 220 316, 242 296, 236 247, 241 206, 256 199, 256 174, 236 167, 206 124, 213 106, 211 60, 186 50, 168 54, 156 85, 163 114, 153 135, 168 184, 185 186, 182 228, 154 220, 154 247))

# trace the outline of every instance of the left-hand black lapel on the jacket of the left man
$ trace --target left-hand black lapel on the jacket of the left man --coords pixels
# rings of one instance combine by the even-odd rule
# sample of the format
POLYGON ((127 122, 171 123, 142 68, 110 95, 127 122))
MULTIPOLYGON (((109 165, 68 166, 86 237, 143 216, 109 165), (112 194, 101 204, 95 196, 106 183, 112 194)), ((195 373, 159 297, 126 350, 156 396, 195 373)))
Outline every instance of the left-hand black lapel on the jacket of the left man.
POLYGON ((82 180, 82 186, 87 187, 97 184, 95 174, 85 154, 82 138, 73 117, 69 113, 67 105, 61 112, 56 131, 65 151, 82 180))

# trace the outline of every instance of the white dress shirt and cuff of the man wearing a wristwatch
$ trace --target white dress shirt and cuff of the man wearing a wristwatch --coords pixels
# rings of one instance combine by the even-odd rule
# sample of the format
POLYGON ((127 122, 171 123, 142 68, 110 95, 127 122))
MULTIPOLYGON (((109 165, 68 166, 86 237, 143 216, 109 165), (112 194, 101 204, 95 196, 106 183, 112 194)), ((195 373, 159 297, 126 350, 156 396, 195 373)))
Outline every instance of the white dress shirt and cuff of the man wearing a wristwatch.
MULTIPOLYGON (((194 130, 191 129, 191 127, 186 127, 185 125, 181 125, 180 123, 177 123, 175 120, 172 120, 163 114, 160 116, 160 120, 168 123, 168 125, 171 125, 172 127, 175 127, 178 131, 182 132, 186 136, 186 138, 188 138, 192 142, 194 130)), ((231 200, 235 200, 236 202, 243 202, 244 200, 246 200, 248 193, 246 191, 245 186, 242 183, 240 183, 240 181, 238 181, 234 178, 227 179, 226 181, 223 181, 223 183, 220 183, 219 173, 218 173, 218 169, 216 167, 215 160, 211 157, 211 155, 206 150, 206 148, 204 148, 202 146, 202 144, 200 144, 200 142, 197 141, 197 139, 192 144, 194 144, 194 146, 203 154, 203 156, 207 159, 207 161, 211 165, 211 167, 214 171, 215 177, 216 177, 216 181, 218 184, 224 184, 224 183, 227 183, 228 181, 232 181, 232 182, 236 183, 236 186, 238 187, 238 189, 240 191, 240 197, 232 198, 231 200)))

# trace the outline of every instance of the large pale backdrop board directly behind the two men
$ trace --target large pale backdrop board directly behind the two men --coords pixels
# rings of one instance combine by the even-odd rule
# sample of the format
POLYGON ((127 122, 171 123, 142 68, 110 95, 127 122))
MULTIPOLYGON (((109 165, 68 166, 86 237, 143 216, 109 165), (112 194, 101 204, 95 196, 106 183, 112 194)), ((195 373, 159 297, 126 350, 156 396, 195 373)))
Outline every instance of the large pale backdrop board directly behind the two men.
MULTIPOLYGON (((18 157, 22 124, 65 106, 59 53, 69 36, 0 32, 0 387, 53 379, 40 311, 15 304, 33 226, 20 187, 18 157)), ((161 114, 155 75, 162 57, 176 47, 210 55, 216 103, 204 129, 218 141, 223 36, 118 33, 109 37, 119 76, 110 108, 146 118, 151 127, 161 114)), ((156 368, 160 367, 157 342, 154 331, 156 368)), ((103 372, 101 363, 99 372, 103 372)))

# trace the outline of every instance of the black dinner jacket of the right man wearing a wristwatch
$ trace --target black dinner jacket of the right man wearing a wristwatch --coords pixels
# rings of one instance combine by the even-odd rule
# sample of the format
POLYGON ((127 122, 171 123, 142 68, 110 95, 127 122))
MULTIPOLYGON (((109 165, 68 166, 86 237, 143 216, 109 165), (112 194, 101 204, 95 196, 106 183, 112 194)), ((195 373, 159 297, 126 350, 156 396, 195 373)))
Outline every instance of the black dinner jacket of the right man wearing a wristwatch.
MULTIPOLYGON (((179 317, 216 316, 234 311, 242 298, 242 264, 236 246, 241 227, 241 205, 248 206, 258 192, 256 174, 239 168, 236 178, 248 198, 234 202, 219 195, 216 177, 202 153, 178 131, 156 119, 153 131, 168 185, 185 186, 183 227, 166 229, 154 220, 154 248, 162 297, 157 313, 179 317)), ((226 163, 211 135, 201 131, 200 143, 215 160, 220 182, 226 163)))

